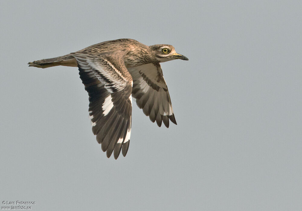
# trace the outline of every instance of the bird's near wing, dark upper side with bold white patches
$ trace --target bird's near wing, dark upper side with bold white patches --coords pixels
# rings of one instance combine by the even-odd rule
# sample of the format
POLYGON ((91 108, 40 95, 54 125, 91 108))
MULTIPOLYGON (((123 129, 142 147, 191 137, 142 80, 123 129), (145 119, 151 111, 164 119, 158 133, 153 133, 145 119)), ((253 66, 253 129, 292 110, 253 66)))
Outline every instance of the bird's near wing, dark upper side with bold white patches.
POLYGON ((75 52, 80 78, 89 95, 92 131, 109 158, 126 156, 131 133, 132 77, 124 64, 127 51, 94 55, 75 52))

